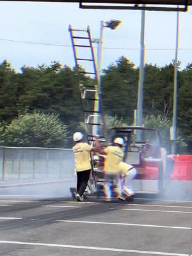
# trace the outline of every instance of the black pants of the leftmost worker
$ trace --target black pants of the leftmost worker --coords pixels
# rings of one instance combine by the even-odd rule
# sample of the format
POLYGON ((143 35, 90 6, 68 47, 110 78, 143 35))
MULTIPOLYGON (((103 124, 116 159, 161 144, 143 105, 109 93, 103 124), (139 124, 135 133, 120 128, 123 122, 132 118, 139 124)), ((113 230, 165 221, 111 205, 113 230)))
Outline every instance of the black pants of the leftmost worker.
POLYGON ((82 196, 86 186, 88 184, 88 180, 90 179, 91 170, 77 172, 77 193, 79 196, 82 196))

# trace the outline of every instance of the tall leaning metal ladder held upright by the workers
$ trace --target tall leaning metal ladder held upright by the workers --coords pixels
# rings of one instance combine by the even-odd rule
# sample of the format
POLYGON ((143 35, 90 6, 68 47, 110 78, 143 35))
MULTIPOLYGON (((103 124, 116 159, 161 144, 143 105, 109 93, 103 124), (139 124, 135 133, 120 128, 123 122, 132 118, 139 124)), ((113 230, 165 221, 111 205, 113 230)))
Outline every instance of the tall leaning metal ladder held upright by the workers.
MULTIPOLYGON (((83 67, 84 70, 79 72, 88 75, 95 80, 95 84, 79 84, 87 140, 90 145, 94 145, 94 136, 97 135, 99 141, 105 143, 104 122, 101 109, 101 92, 99 91, 99 79, 97 76, 90 28, 88 26, 86 30, 73 29, 72 26, 69 25, 68 31, 70 32, 76 67, 83 67)), ((95 154, 90 154, 90 156, 93 170, 91 179, 94 182, 93 188, 95 189, 95 187, 97 187, 97 181, 99 181, 98 175, 96 175, 96 170, 98 170, 98 168, 95 167, 93 161, 95 154)), ((97 164, 100 166, 102 165, 101 158, 97 160, 97 164)), ((88 186, 90 187, 91 185, 92 182, 88 182, 88 186)), ((90 188, 91 191, 94 191, 94 189, 90 188)))

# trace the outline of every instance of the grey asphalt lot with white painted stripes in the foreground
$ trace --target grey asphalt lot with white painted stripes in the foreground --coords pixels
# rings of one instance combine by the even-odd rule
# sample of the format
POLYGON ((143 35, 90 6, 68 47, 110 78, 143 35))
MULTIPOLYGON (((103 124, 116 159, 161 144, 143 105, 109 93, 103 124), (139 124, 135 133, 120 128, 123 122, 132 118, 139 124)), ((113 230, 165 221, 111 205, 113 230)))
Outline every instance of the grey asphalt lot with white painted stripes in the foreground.
POLYGON ((192 202, 0 196, 0 255, 187 256, 192 202))

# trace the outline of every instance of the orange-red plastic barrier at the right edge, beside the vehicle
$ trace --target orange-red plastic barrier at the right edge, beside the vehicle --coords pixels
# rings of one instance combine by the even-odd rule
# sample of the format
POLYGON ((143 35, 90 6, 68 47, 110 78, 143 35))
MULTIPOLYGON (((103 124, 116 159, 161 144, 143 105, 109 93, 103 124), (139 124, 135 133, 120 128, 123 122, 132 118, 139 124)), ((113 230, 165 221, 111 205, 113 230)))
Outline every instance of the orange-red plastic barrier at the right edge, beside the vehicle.
POLYGON ((192 180, 192 155, 174 155, 172 180, 192 180))

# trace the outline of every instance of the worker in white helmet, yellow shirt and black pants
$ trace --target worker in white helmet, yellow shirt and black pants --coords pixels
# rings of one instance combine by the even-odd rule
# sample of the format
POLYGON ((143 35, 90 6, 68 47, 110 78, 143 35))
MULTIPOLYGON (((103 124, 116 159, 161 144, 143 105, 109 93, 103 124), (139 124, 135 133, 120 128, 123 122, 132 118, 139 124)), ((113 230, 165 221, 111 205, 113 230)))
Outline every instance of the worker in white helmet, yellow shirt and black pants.
POLYGON ((77 172, 77 202, 83 201, 83 193, 88 184, 91 172, 91 161, 90 161, 90 151, 97 151, 95 147, 88 145, 88 143, 83 143, 83 134, 81 132, 76 132, 73 135, 73 140, 76 143, 72 147, 75 157, 75 170, 77 172))

